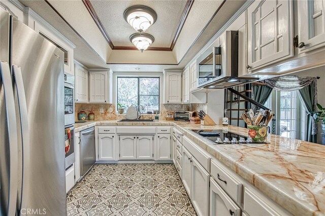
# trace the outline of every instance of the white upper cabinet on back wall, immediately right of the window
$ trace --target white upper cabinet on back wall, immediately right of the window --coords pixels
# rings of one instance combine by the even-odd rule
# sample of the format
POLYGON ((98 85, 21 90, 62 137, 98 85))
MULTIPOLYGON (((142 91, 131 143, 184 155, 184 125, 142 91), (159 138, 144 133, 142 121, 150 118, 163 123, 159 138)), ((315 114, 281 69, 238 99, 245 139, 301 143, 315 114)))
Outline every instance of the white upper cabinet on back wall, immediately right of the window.
POLYGON ((182 71, 164 71, 164 103, 182 102, 182 71))

